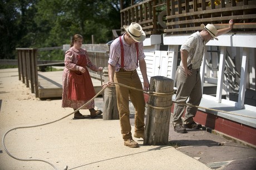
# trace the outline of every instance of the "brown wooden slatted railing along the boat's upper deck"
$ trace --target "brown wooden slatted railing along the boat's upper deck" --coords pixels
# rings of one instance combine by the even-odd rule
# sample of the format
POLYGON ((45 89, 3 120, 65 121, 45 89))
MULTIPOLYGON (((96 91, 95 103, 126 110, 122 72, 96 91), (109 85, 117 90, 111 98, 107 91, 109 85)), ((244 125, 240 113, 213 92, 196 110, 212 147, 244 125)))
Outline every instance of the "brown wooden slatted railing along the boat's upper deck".
POLYGON ((137 22, 147 37, 151 34, 186 34, 212 23, 217 29, 234 19, 234 33, 256 32, 255 0, 145 0, 124 8, 121 3, 121 29, 137 22))

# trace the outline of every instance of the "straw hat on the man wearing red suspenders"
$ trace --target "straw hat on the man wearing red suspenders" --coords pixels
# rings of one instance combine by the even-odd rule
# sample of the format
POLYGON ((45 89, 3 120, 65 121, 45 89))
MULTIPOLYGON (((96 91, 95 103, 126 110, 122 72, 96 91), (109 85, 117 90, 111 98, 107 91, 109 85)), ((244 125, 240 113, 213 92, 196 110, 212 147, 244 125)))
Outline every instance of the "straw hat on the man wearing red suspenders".
POLYGON ((146 38, 145 32, 142 30, 140 24, 132 22, 130 26, 124 26, 125 31, 131 36, 136 42, 142 42, 146 38))

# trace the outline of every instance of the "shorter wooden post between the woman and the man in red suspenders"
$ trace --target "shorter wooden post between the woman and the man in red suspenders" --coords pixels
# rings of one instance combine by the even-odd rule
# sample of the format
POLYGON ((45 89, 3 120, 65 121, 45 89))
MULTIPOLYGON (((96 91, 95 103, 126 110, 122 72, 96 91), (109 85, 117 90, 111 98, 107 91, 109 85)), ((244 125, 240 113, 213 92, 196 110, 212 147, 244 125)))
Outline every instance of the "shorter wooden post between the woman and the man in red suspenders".
MULTIPOLYGON (((103 70, 105 77, 105 81, 109 81, 109 74, 107 68, 103 70)), ((104 120, 114 120, 119 119, 119 112, 117 109, 117 102, 116 102, 116 87, 109 86, 104 90, 104 112, 102 113, 102 118, 104 120)))

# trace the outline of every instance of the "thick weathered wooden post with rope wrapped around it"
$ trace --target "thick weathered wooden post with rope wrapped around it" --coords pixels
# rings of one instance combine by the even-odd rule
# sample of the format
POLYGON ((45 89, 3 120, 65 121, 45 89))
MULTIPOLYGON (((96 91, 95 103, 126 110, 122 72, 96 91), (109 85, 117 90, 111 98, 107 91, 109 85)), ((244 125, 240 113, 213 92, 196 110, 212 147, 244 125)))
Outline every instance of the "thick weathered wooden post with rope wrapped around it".
POLYGON ((173 87, 173 79, 151 77, 144 145, 168 144, 173 87))

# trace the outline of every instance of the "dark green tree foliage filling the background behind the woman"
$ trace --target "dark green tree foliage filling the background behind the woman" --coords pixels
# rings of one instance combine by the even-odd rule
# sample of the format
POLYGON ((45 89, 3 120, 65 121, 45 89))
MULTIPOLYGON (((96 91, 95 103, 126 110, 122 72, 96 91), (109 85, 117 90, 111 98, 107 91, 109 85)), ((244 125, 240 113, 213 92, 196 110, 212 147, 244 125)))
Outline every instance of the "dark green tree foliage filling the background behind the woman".
MULTIPOLYGON (((134 2, 139 2, 137 0, 134 2)), ((131 1, 125 0, 124 7, 131 1)), ((120 0, 0 0, 0 59, 16 48, 58 47, 73 34, 83 43, 106 43, 120 29, 120 0)), ((63 56, 62 56, 63 57, 63 56)))

